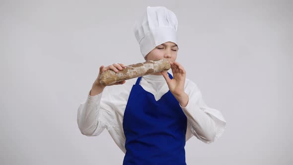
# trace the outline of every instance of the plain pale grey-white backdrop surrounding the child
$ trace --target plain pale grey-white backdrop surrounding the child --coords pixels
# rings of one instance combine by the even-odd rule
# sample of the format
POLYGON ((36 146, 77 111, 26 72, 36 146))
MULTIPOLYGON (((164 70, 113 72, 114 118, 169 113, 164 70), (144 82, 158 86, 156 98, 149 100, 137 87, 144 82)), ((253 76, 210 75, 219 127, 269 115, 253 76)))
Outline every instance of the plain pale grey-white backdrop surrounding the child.
POLYGON ((293 164, 292 0, 0 0, 0 164, 122 165, 76 114, 101 65, 144 62, 133 24, 147 6, 178 17, 177 61, 227 121, 188 165, 293 164))

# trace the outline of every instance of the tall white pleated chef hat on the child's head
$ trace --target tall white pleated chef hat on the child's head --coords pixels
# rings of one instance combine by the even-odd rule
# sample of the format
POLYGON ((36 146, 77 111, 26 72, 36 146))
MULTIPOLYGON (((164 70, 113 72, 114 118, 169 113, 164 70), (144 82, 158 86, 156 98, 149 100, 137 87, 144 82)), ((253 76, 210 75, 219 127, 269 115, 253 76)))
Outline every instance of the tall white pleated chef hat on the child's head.
POLYGON ((134 25, 134 34, 144 57, 162 43, 177 44, 177 31, 176 15, 163 6, 147 6, 143 17, 134 25))

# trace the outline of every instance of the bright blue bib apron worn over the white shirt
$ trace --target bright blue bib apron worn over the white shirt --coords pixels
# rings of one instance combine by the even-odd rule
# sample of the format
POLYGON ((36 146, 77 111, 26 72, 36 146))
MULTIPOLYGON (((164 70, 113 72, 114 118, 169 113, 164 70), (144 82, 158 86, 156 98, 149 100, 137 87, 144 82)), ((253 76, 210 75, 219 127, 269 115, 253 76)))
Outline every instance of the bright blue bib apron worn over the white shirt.
POLYGON ((140 85, 141 78, 133 85, 124 112, 123 165, 186 165, 187 118, 179 102, 170 90, 156 101, 140 85))

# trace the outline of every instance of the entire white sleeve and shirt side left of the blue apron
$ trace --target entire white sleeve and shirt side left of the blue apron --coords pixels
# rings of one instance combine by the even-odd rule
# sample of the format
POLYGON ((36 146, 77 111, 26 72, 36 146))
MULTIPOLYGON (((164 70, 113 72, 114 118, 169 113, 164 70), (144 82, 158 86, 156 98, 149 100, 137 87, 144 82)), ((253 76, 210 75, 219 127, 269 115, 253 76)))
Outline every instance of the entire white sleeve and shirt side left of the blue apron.
POLYGON ((81 134, 98 136, 107 129, 115 143, 125 151, 123 115, 135 81, 132 79, 123 85, 106 86, 101 93, 94 96, 90 96, 89 91, 86 100, 77 110, 77 124, 81 134))

